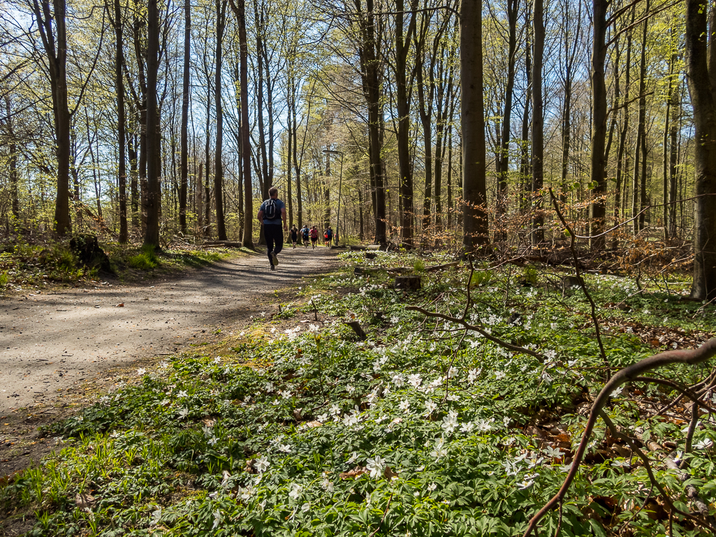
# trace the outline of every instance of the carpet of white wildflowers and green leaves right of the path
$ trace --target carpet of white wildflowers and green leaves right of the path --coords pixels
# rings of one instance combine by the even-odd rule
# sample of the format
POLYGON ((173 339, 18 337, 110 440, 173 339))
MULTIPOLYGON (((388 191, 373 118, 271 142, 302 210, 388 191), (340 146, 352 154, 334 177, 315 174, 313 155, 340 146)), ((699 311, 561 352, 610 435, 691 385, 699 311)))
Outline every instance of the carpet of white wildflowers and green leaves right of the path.
MULTIPOLYGON (((230 349, 137 369, 48 427, 57 451, 0 485, 6 528, 520 536, 563 483, 606 379, 716 332, 712 306, 685 299, 679 274, 584 275, 602 352, 584 292, 546 266, 342 257, 339 271, 301 283, 303 300, 258 313, 230 349), (420 275, 422 289, 393 289, 395 274, 420 275)), ((620 435, 598 422, 540 535, 712 532, 716 425, 684 386, 716 406, 714 369, 650 376, 671 385, 611 393, 605 413, 620 435)))

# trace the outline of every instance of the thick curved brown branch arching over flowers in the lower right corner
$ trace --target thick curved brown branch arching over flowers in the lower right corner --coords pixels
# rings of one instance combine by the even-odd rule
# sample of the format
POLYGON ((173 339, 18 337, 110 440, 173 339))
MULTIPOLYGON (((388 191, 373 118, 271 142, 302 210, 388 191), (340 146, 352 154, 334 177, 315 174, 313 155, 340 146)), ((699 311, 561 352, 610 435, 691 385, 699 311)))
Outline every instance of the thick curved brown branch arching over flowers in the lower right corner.
MULTIPOLYGON (((569 490, 569 486, 571 485, 572 481, 574 481, 574 478, 576 478, 577 472, 579 470, 579 465, 581 463, 582 458, 584 458, 584 452, 586 452, 587 445, 589 444, 589 437, 591 437, 591 432, 594 430, 596 420, 604 409, 606 402, 609 401, 609 396, 611 395, 611 392, 614 392, 614 390, 616 390, 622 384, 631 382, 642 376, 642 374, 651 371, 652 369, 656 369, 657 367, 671 364, 697 365, 701 364, 702 362, 706 362, 708 359, 714 357, 715 355, 716 338, 712 338, 709 339, 709 341, 705 342, 705 344, 702 344, 702 346, 698 347, 697 349, 679 349, 660 352, 659 354, 654 354, 654 356, 644 358, 636 364, 632 364, 629 367, 624 367, 624 369, 620 369, 618 372, 616 372, 614 376, 611 377, 609 382, 604 385, 604 388, 601 389, 601 392, 599 392, 599 395, 596 397, 596 400, 594 400, 594 404, 591 406, 591 410, 589 412, 589 419, 586 422, 586 427, 584 428, 581 442, 579 442, 579 448, 577 448, 576 453, 574 454, 572 468, 569 470, 569 473, 567 474, 564 483, 562 483, 561 488, 551 498, 551 500, 549 500, 543 506, 543 508, 541 508, 530 519, 527 529, 525 533, 523 533, 523 537, 528 537, 530 533, 535 530, 538 522, 541 521, 543 516, 545 516, 549 511, 555 508, 558 503, 563 500, 564 496, 567 493, 567 490, 569 490)), ((634 445, 632 444, 633 442, 630 442, 632 449, 634 449, 634 445)), ((649 468, 647 468, 647 471, 649 471, 649 468)), ((649 475, 649 478, 651 479, 651 475, 649 475)), ((659 492, 662 492, 662 489, 658 485, 657 488, 659 488, 659 492)), ((705 522, 702 521, 702 523, 705 522)), ((705 525, 708 526, 707 523, 705 523, 705 525)))

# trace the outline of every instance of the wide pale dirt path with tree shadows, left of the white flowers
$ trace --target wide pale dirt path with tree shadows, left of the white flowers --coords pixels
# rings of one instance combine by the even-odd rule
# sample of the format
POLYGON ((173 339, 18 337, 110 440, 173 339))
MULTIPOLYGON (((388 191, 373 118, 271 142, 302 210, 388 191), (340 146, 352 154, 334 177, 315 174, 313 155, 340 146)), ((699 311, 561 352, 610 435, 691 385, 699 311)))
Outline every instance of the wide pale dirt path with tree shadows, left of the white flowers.
MULTIPOLYGON (((306 274, 330 269, 326 248, 284 248, 125 284, 117 279, 0 298, 0 476, 52 449, 38 427, 74 414, 127 369, 231 336, 306 274)), ((275 307, 273 308, 275 309, 275 307)))

